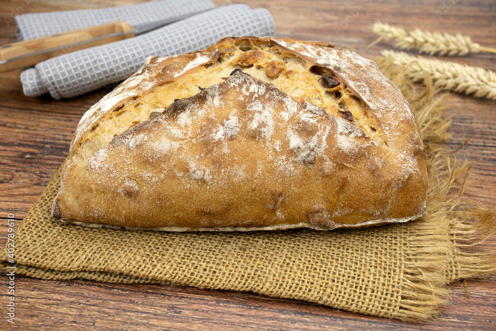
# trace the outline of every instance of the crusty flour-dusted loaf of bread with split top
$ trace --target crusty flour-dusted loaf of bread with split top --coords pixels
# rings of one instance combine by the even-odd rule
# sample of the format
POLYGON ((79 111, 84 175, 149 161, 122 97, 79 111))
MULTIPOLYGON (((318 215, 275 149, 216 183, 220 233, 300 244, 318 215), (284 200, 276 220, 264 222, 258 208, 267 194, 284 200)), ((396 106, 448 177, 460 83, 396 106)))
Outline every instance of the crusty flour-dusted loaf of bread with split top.
POLYGON ((81 119, 55 219, 163 231, 331 230, 426 212, 415 115, 370 60, 225 38, 144 66, 81 119))

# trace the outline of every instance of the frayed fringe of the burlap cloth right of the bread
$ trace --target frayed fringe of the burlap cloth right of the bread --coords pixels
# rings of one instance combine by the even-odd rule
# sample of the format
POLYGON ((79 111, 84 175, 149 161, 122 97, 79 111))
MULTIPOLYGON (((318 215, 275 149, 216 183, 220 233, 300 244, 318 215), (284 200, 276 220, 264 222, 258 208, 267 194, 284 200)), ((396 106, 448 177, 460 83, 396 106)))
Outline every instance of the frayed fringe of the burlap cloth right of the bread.
POLYGON ((450 138, 451 119, 443 116, 443 101, 447 94, 439 95, 440 89, 434 89, 432 77, 427 72, 426 87, 417 94, 412 81, 405 77, 404 66, 395 66, 393 61, 383 57, 374 61, 412 105, 428 154, 428 210, 423 217, 425 236, 414 240, 417 245, 412 247, 413 255, 405 264, 404 277, 408 287, 403 289, 402 306, 409 311, 409 318, 399 317, 426 320, 438 316, 439 306, 448 302, 448 283, 496 272, 496 251, 464 252, 464 248, 477 246, 496 233, 496 210, 462 198, 473 165, 457 164, 453 156, 456 151, 447 151, 442 145, 450 138), (453 195, 454 184, 460 188, 448 198, 453 195), (441 231, 434 234, 433 228, 441 231), (430 245, 433 240, 439 242, 435 252, 430 245), (419 300, 424 302, 423 306, 419 305, 419 300))

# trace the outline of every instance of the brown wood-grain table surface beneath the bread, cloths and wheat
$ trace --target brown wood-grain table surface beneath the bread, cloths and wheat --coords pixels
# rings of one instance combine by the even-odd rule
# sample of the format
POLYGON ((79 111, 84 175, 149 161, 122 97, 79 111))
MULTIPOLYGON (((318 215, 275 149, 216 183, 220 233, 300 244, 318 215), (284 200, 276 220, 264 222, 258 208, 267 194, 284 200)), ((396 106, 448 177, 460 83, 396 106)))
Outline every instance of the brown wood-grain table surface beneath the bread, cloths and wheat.
MULTIPOLYGON (((101 8, 139 0, 2 0, 0 45, 15 41, 12 16, 28 12, 101 8)), ((214 0, 218 5, 234 2, 214 0)), ((390 44, 375 40, 371 24, 382 20, 406 29, 420 27, 448 33, 461 32, 487 47, 496 47, 494 0, 257 0, 252 8, 268 8, 277 35, 323 40, 373 58, 390 44)), ((450 59, 496 71, 495 54, 450 59)), ((42 193, 64 160, 82 114, 96 101, 96 93, 55 101, 45 95, 28 98, 22 93, 20 70, 0 74, 0 246, 6 242, 7 215, 17 224, 42 193)), ((496 201, 496 101, 454 95, 446 104, 453 117, 452 140, 456 149, 469 144, 459 160, 475 162, 466 197, 496 201)), ((484 249, 495 249, 496 238, 484 249)), ((6 322, 8 280, 0 271, 0 329, 6 322)), ((21 329, 402 329, 496 330, 496 276, 469 280, 470 298, 461 283, 451 286, 452 305, 443 316, 425 323, 406 323, 353 314, 306 302, 274 299, 249 293, 200 290, 160 285, 107 284, 93 281, 48 281, 16 275, 15 326, 21 329)))

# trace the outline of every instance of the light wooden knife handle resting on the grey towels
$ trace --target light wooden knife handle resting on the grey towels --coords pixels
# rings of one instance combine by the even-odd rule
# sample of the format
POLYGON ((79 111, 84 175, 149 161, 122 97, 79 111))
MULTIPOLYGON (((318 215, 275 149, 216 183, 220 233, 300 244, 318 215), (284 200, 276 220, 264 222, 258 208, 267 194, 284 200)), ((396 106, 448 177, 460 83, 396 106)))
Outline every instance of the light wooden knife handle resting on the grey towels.
POLYGON ((112 22, 0 46, 0 72, 7 72, 85 48, 134 37, 127 22, 112 22))

